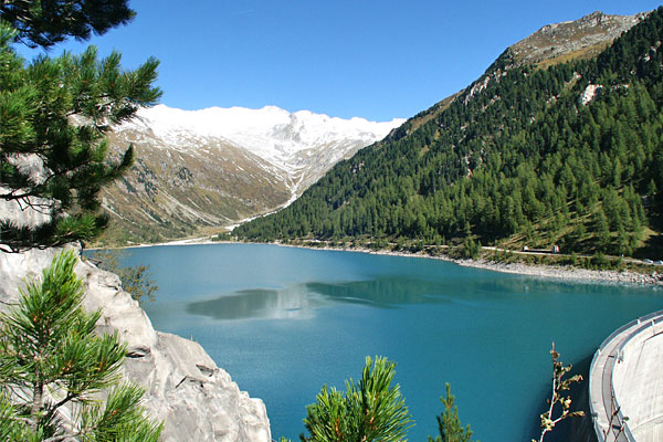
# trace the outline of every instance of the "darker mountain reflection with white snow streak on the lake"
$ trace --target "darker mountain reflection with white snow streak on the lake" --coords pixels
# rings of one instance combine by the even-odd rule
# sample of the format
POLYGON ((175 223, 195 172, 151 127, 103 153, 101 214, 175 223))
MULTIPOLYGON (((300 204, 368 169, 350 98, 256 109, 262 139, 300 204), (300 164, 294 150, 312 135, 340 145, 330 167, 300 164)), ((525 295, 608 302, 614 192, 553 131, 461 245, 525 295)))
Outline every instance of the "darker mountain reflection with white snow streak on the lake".
MULTIPOLYGON (((404 304, 466 303, 497 299, 517 294, 528 295, 550 287, 550 281, 501 278, 492 281, 424 281, 412 277, 383 276, 346 283, 309 282, 285 288, 241 290, 214 299, 187 304, 187 312, 213 319, 306 319, 314 311, 336 303, 362 304, 376 308, 394 308, 404 304)), ((617 291, 620 287, 614 287, 617 291)), ((591 293, 594 284, 556 284, 558 293, 591 293)))

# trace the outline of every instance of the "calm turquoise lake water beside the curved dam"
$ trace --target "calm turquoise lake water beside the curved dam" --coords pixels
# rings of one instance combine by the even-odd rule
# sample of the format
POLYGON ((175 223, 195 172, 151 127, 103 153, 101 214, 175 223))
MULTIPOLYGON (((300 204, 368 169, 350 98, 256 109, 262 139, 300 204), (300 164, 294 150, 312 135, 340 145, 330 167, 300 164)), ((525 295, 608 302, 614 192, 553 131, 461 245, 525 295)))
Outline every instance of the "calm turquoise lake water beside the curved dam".
POLYGON ((550 343, 587 364, 612 330, 663 308, 663 291, 461 267, 412 257, 260 244, 130 249, 159 291, 155 328, 199 341, 240 389, 264 400, 273 438, 297 440, 323 383, 343 388, 367 355, 398 362, 417 425, 436 432, 451 383, 483 442, 536 435, 550 343))

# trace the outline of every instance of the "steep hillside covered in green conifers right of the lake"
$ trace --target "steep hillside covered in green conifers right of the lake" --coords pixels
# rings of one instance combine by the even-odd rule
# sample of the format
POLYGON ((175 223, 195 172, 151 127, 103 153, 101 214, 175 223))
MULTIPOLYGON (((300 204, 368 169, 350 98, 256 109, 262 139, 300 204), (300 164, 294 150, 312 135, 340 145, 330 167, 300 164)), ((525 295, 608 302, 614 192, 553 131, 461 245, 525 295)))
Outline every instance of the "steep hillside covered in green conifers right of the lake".
POLYGON ((544 69, 509 49, 235 234, 650 253, 663 215, 662 41, 660 8, 591 60, 544 69))

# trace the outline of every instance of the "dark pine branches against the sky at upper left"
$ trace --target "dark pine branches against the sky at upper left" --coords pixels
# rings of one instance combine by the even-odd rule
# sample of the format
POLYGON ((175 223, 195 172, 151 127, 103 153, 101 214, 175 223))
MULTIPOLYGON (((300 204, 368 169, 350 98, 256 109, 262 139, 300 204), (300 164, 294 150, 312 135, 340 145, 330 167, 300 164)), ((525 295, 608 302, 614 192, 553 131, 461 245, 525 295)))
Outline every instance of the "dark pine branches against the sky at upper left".
POLYGON ((103 33, 123 22, 113 14, 104 21, 105 6, 115 3, 126 2, 2 2, 0 19, 17 25, 15 14, 22 24, 18 30, 7 21, 0 24, 0 201, 48 215, 36 225, 0 220, 4 252, 91 240, 107 224, 107 217, 98 212, 98 191, 131 165, 134 150, 129 146, 122 158, 109 161, 105 134, 139 106, 156 103, 161 94, 154 86, 158 62, 150 59, 125 71, 119 53, 99 60, 94 46, 81 55, 42 55, 25 62, 12 42, 28 39, 48 46, 66 35, 84 39, 92 31, 103 33), (51 11, 59 6, 63 11, 65 6, 73 8, 71 17, 51 11), (93 11, 94 7, 101 9, 93 11), (20 8, 27 12, 19 13, 20 8), (60 31, 44 30, 30 14, 64 22, 52 23, 60 31))

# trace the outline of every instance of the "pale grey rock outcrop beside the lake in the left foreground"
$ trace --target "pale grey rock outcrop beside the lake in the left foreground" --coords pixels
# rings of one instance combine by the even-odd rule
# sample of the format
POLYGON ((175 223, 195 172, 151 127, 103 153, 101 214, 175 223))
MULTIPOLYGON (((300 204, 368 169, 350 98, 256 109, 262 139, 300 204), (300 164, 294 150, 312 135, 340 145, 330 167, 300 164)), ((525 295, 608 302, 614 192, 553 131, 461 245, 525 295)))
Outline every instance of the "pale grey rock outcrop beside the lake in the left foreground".
MULTIPOLYGON (((24 278, 40 275, 57 252, 0 252, 0 309, 15 302, 24 278)), ((147 390, 145 407, 151 418, 166 423, 162 441, 271 440, 264 403, 240 391, 199 344, 156 332, 138 303, 122 290, 117 275, 85 260, 76 273, 87 283, 85 308, 102 308, 98 332, 117 330, 127 343, 124 376, 147 390)))

